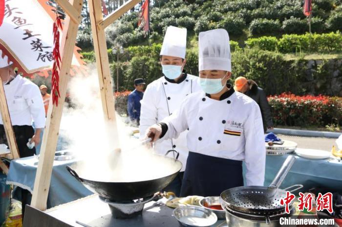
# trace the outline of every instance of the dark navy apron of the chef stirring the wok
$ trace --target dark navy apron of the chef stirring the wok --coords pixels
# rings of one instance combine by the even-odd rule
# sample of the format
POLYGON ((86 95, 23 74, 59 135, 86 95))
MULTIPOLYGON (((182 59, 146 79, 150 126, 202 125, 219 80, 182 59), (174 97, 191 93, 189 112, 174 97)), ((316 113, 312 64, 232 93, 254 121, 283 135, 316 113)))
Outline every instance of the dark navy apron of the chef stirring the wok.
POLYGON ((189 152, 180 196, 219 196, 243 186, 242 161, 189 152))

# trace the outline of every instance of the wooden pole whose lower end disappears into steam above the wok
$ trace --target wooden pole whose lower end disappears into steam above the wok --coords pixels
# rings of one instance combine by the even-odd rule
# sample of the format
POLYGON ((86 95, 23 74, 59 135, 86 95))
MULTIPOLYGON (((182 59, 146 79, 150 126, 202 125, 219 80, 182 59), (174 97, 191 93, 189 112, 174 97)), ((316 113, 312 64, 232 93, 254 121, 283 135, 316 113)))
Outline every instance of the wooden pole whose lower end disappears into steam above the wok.
MULTIPOLYGON (((93 35, 94 52, 96 57, 97 74, 99 77, 102 108, 106 120, 107 134, 117 142, 119 146, 119 135, 115 117, 115 100, 109 71, 109 60, 107 54, 106 34, 104 28, 97 24, 103 20, 101 0, 89 0, 89 12, 91 31, 93 35)), ((117 54, 120 50, 118 50, 117 54)))

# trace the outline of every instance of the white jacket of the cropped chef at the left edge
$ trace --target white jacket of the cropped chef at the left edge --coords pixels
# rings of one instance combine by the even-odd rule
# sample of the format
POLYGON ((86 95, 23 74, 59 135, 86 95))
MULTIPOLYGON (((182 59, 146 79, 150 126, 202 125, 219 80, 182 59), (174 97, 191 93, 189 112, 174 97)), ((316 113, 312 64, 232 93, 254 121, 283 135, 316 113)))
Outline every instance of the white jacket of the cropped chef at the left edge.
MULTIPOLYGON (((32 125, 45 127, 45 110, 42 94, 38 86, 17 75, 9 84, 3 85, 12 125, 32 125)), ((3 124, 0 117, 0 124, 3 124)))

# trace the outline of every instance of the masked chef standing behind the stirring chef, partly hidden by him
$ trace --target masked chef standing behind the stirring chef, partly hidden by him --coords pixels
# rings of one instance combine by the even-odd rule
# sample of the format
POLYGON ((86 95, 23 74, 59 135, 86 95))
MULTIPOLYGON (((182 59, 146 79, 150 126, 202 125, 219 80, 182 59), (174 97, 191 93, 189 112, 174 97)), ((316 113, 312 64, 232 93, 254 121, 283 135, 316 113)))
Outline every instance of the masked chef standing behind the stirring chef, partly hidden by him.
MULTIPOLYGON (((139 130, 141 137, 145 137, 148 127, 173 114, 187 95, 201 89, 197 83, 198 77, 187 74, 185 70, 186 43, 187 30, 185 28, 168 27, 160 51, 163 76, 147 86, 144 97, 140 101, 139 130)), ((154 151, 160 155, 164 155, 169 150, 179 152, 178 160, 182 162, 183 168, 165 189, 173 191, 176 195, 179 195, 189 153, 186 135, 187 131, 181 132, 177 137, 156 142, 153 146, 154 151)))

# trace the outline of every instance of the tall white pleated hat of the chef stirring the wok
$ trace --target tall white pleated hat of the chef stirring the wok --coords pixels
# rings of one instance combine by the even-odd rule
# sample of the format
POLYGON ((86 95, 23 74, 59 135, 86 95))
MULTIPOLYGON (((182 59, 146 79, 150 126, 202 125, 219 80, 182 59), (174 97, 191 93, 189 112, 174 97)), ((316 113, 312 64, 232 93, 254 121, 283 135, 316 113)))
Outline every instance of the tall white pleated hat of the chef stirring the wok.
POLYGON ((199 33, 198 69, 231 72, 231 49, 226 30, 214 29, 199 33))

